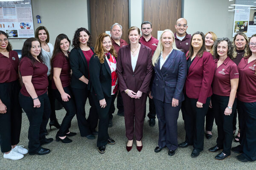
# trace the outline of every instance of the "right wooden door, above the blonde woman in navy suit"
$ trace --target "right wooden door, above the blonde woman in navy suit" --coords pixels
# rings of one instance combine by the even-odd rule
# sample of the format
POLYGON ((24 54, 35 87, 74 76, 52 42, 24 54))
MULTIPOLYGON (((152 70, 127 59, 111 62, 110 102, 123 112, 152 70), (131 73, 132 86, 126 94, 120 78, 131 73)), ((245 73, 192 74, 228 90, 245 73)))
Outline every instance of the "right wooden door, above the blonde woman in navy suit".
POLYGON ((176 32, 175 24, 181 17, 181 0, 144 0, 144 21, 152 23, 152 36, 157 31, 170 29, 176 32))

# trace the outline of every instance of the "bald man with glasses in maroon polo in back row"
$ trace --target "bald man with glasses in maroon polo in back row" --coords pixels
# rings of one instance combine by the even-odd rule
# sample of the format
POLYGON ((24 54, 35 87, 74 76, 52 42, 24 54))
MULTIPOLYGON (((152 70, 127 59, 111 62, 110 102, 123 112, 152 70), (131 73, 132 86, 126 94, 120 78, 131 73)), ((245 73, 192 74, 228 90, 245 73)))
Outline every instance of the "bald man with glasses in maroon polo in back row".
POLYGON ((187 20, 185 18, 180 18, 177 20, 175 29, 176 33, 175 36, 175 43, 178 49, 183 51, 185 54, 189 51, 191 35, 186 33, 187 20))

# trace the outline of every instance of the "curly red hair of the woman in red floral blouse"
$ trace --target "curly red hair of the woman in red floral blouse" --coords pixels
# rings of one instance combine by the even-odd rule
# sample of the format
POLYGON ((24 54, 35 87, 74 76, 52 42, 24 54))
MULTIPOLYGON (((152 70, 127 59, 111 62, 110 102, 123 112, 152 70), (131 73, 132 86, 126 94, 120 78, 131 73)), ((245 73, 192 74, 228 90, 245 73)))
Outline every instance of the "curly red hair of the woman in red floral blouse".
MULTIPOLYGON (((95 52, 96 56, 99 57, 99 62, 102 63, 102 64, 104 63, 104 60, 105 60, 105 54, 104 54, 104 50, 103 50, 103 47, 102 47, 102 41, 105 37, 110 38, 110 36, 106 33, 99 34, 99 37, 97 37, 96 45, 95 45, 95 48, 94 48, 94 52, 95 52)), ((113 45, 111 46, 111 49, 110 49, 109 52, 115 58, 117 57, 117 54, 116 54, 116 51, 114 50, 113 45)))

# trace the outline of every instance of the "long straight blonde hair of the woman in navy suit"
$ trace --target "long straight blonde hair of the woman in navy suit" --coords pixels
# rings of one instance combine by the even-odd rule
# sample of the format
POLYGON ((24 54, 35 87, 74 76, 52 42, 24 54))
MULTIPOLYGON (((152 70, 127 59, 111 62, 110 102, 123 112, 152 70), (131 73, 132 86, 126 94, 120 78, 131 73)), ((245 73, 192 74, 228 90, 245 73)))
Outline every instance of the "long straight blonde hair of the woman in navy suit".
MULTIPOLYGON (((172 34, 172 39, 173 39, 173 43, 172 43, 172 48, 175 49, 175 50, 180 50, 176 47, 176 43, 175 43, 175 37, 174 37, 174 34, 171 30, 169 29, 166 29, 163 31, 163 33, 165 32, 170 32, 172 34)), ((161 42, 161 39, 162 39, 162 36, 163 36, 163 33, 161 34, 160 38, 159 38, 159 42, 158 42, 158 45, 157 45, 157 49, 156 51, 154 52, 154 55, 152 57, 152 64, 155 66, 155 64, 157 64, 158 62, 158 59, 159 59, 159 55, 161 54, 161 52, 163 51, 163 45, 162 45, 162 42, 161 42)))

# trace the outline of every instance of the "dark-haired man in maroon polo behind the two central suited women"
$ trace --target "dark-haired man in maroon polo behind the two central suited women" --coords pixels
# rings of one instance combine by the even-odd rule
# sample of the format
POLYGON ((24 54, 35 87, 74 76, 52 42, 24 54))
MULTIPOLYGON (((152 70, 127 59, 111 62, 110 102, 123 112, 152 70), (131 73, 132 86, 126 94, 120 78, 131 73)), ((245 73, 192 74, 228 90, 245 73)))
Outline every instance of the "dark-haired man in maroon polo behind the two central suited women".
MULTIPOLYGON (((152 30, 153 30, 152 24, 149 21, 144 21, 141 24, 142 37, 140 38, 140 43, 151 48, 152 55, 153 55, 154 51, 156 51, 157 49, 158 40, 151 35, 152 30)), ((148 103, 149 103, 149 113, 148 113, 149 126, 154 126, 156 124, 155 122, 156 110, 155 110, 153 99, 148 98, 148 103)))

